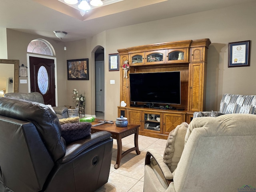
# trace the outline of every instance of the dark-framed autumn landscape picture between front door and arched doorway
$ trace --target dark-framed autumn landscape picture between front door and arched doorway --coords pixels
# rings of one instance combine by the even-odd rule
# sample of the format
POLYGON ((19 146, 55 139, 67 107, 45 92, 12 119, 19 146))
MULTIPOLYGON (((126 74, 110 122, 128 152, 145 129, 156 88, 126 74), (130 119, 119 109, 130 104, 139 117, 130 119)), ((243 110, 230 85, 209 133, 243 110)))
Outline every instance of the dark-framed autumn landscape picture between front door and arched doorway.
POLYGON ((68 80, 89 80, 88 59, 67 60, 68 80))

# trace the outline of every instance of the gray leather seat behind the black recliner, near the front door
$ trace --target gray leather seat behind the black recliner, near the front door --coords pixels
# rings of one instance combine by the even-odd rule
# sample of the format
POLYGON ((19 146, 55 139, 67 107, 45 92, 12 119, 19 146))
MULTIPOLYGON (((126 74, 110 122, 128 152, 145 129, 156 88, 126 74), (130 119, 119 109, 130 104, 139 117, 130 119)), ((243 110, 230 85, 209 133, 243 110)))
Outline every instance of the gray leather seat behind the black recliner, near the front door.
MULTIPOLYGON (((33 101, 44 104, 43 96, 38 92, 32 93, 6 93, 4 97, 11 97, 11 98, 20 98, 27 101, 33 101)), ((53 106, 52 107, 54 112, 56 113, 59 119, 61 118, 68 118, 68 108, 64 106, 53 106)))

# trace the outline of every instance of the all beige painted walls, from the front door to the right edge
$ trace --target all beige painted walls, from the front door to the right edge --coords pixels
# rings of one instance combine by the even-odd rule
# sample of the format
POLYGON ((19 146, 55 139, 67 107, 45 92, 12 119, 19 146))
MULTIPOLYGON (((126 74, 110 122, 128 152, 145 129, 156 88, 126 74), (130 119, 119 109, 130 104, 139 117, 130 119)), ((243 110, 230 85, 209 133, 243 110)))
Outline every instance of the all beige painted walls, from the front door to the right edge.
MULTIPOLYGON (((120 106, 119 71, 108 71, 108 54, 117 49, 152 43, 210 38, 206 110, 219 110, 224 93, 256 94, 256 2, 106 30, 86 40, 66 42, 7 30, 8 59, 26 65, 26 47, 35 38, 48 40, 56 50, 59 105, 74 105, 72 90, 85 92, 86 114, 95 114, 94 51, 104 47, 105 118, 115 120, 120 106), (228 43, 251 40, 249 67, 228 68, 228 43), (67 51, 63 46, 67 46, 67 51), (66 60, 89 58, 89 80, 67 80, 66 60), (115 80, 115 84, 110 84, 115 80)), ((124 20, 125 22, 125 20, 124 20)), ((20 85, 20 91, 27 89, 20 85)))

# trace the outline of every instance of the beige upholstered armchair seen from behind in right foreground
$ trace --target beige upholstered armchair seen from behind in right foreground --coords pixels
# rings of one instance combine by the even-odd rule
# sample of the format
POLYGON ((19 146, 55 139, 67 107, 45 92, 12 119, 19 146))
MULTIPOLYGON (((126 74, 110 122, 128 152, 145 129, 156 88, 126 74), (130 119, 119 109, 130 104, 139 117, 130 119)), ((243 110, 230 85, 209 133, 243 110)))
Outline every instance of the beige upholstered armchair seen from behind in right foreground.
POLYGON ((174 172, 158 152, 147 152, 144 192, 255 190, 256 115, 194 118, 184 142, 174 172))

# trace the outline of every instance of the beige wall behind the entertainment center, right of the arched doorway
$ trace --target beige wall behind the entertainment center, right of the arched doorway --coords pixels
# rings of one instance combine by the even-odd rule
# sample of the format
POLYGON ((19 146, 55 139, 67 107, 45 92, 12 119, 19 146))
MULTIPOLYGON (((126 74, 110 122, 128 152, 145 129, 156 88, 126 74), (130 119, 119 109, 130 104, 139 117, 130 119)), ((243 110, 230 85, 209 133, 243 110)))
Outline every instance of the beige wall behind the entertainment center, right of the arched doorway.
MULTIPOLYGON (((224 93, 256 94, 256 2, 168 18, 106 32, 106 55, 117 49, 160 42, 210 38, 206 110, 219 110, 224 93), (228 68, 228 43, 251 40, 249 67, 228 68)), ((125 21, 124 21, 125 22, 125 21)), ((106 118, 117 116, 119 73, 106 72, 106 118), (110 85, 109 80, 116 84, 110 85)))

